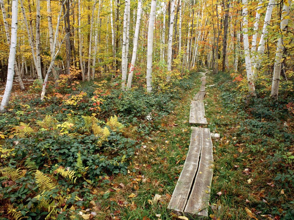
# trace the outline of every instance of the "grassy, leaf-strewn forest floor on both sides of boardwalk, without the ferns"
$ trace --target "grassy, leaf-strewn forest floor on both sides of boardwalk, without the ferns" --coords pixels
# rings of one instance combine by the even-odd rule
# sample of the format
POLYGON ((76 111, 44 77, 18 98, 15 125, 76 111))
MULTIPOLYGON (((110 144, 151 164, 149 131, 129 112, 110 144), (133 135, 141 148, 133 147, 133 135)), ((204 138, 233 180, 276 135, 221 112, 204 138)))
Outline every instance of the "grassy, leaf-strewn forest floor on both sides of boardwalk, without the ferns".
MULTIPOLYGON (((26 167, 27 162, 24 161, 34 160, 34 167, 39 167, 39 170, 53 180, 58 180, 60 191, 65 188, 71 192, 73 198, 78 195, 76 198, 79 201, 67 201, 70 206, 74 204, 69 210, 69 213, 73 210, 77 213, 73 219, 177 219, 178 216, 166 208, 190 144, 190 104, 193 96, 199 91, 200 77, 200 74, 194 73, 190 78, 184 79, 182 84, 177 85, 178 89, 183 89, 174 91, 177 96, 155 93, 154 97, 150 97, 151 95, 136 90, 125 96, 119 90, 106 95, 101 105, 99 120, 109 121, 108 117, 111 115, 120 115, 118 119, 126 128, 120 132, 111 132, 108 141, 103 143, 103 148, 98 151, 88 149, 88 146, 93 146, 91 138, 95 139, 95 136, 89 129, 85 130, 86 125, 81 121, 84 115, 93 115, 93 105, 88 103, 93 100, 93 85, 88 85, 87 97, 83 96, 85 101, 82 99, 76 105, 64 104, 64 101, 55 99, 48 99, 49 103, 32 100, 17 104, 19 97, 15 96, 14 104, 17 106, 9 109, 0 120, 1 129, 14 130, 14 124, 23 121, 32 126, 36 134, 26 133, 27 137, 24 138, 17 135, 9 137, 5 146, 9 143, 15 145, 13 150, 17 150, 17 153, 7 153, 6 162, 0 162, 7 165, 9 161, 10 165, 20 168, 26 167), (156 98, 158 100, 154 102, 156 98), (145 117, 151 110, 155 113, 151 122, 148 122, 145 117), (68 122, 76 121, 77 125, 74 124, 70 128, 64 126, 62 129, 68 129, 73 134, 75 131, 81 133, 79 138, 73 139, 66 133, 62 134, 63 130, 59 131, 57 128, 46 131, 44 128, 33 126, 37 120, 49 114, 56 117, 57 123, 66 117, 68 122), (76 118, 71 114, 76 115, 76 118), (137 126, 136 132, 133 132, 130 124, 137 126), (127 141, 124 138, 126 136, 136 140, 136 146, 127 141), (78 162, 73 162, 79 152, 84 152, 82 162, 90 167, 87 170, 87 178, 96 181, 97 174, 93 172, 98 169, 101 172, 98 185, 91 187, 84 181, 86 172, 82 172, 84 180, 80 175, 76 185, 66 178, 54 175, 57 168, 54 168, 54 163, 62 167, 72 166, 76 173, 81 172, 81 168, 77 167, 78 162), (106 157, 101 159, 99 155, 106 157), (125 165, 127 162, 124 158, 130 160, 130 164, 125 165), (113 168, 113 161, 121 161, 121 170, 113 168)), ((36 94, 37 91, 29 92, 21 99, 26 100, 25 96, 36 94)), ((294 185, 294 111, 287 108, 288 101, 273 102, 265 96, 251 99, 240 92, 238 82, 233 82, 228 73, 209 73, 204 104, 208 120, 206 127, 210 128, 211 132, 219 133, 221 137, 219 140, 213 139, 215 169, 208 207, 209 219, 294 219, 294 196, 291 193, 294 185)), ((29 211, 19 205, 27 206, 29 197, 38 193, 36 188, 35 191, 26 190, 24 195, 19 192, 20 184, 24 184, 21 188, 26 188, 25 184, 34 184, 34 178, 34 173, 30 171, 26 172, 26 179, 20 179, 20 182, 7 182, 5 179, 2 181, 2 185, 6 185, 0 187, 0 214, 5 213, 5 206, 9 204, 7 199, 10 198, 10 201, 14 201, 19 210, 23 211, 21 213, 35 216, 33 212, 36 213, 38 209, 29 211)), ((39 213, 40 216, 46 215, 43 209, 40 209, 39 213)))

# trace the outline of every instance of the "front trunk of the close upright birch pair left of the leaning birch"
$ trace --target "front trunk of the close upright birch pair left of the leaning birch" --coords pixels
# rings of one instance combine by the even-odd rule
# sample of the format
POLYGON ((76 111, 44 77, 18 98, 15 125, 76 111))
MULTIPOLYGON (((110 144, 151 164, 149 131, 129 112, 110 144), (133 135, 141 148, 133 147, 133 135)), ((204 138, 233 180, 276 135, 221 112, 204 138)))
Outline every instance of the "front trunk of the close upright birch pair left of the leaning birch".
POLYGON ((126 29, 127 29, 127 15, 128 15, 128 0, 125 0, 125 9, 123 13, 123 42, 121 52, 121 89, 124 90, 126 85, 126 29))

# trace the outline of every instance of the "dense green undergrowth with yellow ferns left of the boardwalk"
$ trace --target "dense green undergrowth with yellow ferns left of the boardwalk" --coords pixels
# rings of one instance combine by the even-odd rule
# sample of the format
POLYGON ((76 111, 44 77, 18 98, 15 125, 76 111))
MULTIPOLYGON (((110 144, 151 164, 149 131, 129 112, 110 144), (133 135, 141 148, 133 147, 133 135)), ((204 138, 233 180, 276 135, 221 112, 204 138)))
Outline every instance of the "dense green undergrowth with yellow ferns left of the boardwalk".
POLYGON ((138 87, 122 92, 106 80, 87 86, 65 80, 45 102, 28 101, 30 94, 14 99, 0 120, 1 219, 96 216, 91 211, 103 210, 98 188, 132 171, 142 141, 161 130, 195 73, 178 78, 152 94, 138 87))

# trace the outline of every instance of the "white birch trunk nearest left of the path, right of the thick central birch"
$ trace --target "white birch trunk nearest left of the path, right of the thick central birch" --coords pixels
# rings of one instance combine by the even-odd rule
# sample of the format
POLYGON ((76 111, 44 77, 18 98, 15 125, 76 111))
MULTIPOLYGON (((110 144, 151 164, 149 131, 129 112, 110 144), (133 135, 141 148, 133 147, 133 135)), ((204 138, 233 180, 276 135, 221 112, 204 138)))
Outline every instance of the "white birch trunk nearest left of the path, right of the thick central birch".
MULTIPOLYGON (((172 62, 172 47, 173 47, 173 20, 175 18, 175 0, 171 0, 171 16, 170 16, 170 24, 169 24, 169 32, 168 32, 168 53, 167 53, 167 71, 171 71, 171 62, 172 62)), ((166 76, 166 81, 169 82, 171 80, 171 75, 168 73, 166 76)))

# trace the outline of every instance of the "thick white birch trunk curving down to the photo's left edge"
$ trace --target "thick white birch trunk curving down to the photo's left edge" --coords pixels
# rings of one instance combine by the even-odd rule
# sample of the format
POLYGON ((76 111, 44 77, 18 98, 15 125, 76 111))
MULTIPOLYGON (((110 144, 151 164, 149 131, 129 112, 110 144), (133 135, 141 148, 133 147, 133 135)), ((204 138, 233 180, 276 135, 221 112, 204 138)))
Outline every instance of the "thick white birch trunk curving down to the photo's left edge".
POLYGON ((16 43, 17 43, 17 14, 18 14, 18 0, 12 0, 11 7, 11 39, 10 39, 10 50, 9 50, 9 59, 8 59, 8 71, 6 79, 6 87, 3 95, 3 99, 0 105, 0 112, 4 112, 6 106, 9 103, 11 89, 13 85, 13 76, 14 76, 14 62, 16 54, 16 43))

